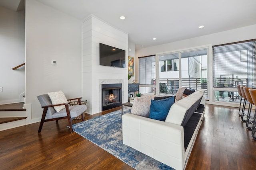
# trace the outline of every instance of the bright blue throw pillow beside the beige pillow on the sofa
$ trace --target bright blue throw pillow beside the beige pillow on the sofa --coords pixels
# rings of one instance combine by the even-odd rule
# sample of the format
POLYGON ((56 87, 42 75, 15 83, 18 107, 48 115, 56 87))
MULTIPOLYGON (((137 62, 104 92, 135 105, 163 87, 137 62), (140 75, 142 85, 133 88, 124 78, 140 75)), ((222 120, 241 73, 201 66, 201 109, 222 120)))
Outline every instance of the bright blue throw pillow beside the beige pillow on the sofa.
POLYGON ((149 118, 165 121, 172 104, 174 104, 173 96, 162 100, 151 100, 149 118))

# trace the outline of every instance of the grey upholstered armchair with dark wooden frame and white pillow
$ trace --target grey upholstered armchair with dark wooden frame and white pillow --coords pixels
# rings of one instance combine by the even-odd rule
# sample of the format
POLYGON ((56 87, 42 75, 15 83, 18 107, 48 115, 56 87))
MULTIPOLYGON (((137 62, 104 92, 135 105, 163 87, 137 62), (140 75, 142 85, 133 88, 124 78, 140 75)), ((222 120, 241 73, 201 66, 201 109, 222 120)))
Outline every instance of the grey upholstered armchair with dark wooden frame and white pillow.
POLYGON ((70 132, 72 133, 72 120, 81 115, 82 121, 84 121, 84 115, 82 113, 86 111, 87 107, 86 105, 81 105, 81 98, 66 99, 66 97, 61 91, 52 93, 55 93, 57 95, 52 96, 52 98, 50 98, 48 94, 51 93, 48 93, 42 94, 37 97, 42 108, 44 109, 38 133, 41 132, 44 122, 56 120, 57 123, 59 119, 68 119, 70 132), (79 105, 69 106, 68 101, 73 100, 77 100, 79 105))

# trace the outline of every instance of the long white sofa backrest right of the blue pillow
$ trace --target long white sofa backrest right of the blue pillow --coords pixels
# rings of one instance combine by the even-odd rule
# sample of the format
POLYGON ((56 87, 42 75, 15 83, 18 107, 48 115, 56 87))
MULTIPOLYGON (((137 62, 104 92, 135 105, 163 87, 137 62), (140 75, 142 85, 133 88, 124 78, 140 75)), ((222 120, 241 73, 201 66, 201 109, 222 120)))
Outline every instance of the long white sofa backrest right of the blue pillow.
POLYGON ((201 100, 203 94, 204 92, 197 90, 196 92, 190 94, 188 97, 183 98, 178 102, 175 102, 170 108, 165 121, 169 123, 181 125, 186 113, 191 112, 191 111, 188 111, 188 109, 190 109, 190 107, 192 107, 195 103, 197 103, 198 100, 201 100))

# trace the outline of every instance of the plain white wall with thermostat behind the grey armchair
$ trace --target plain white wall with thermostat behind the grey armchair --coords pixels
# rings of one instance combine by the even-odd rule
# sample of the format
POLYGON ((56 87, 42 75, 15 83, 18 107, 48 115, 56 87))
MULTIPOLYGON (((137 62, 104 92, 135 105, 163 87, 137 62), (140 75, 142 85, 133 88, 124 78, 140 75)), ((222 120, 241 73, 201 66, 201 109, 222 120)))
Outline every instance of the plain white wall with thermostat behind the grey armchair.
POLYGON ((38 95, 62 90, 67 98, 82 96, 82 22, 35 0, 26 0, 25 11, 25 107, 32 107, 32 123, 42 116, 38 95))

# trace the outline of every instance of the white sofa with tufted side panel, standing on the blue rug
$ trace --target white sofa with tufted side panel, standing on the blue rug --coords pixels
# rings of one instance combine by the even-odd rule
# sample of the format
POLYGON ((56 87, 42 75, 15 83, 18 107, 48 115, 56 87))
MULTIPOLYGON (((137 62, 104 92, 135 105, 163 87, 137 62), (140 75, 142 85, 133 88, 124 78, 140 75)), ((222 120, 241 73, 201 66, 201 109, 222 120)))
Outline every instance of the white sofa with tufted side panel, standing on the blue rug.
MULTIPOLYGON (((122 116, 123 143, 172 168, 184 169, 186 158, 192 149, 193 141, 204 117, 204 108, 201 114, 194 113, 203 94, 204 90, 200 89, 175 102, 165 121, 130 113, 124 114, 122 116), (190 122, 195 115, 198 117, 196 124, 193 121, 190 122), (188 135, 191 139, 187 139, 185 146, 184 129, 190 129, 186 127, 186 124, 194 126, 195 129, 188 135)), ((201 104, 204 104, 204 100, 201 104)))

